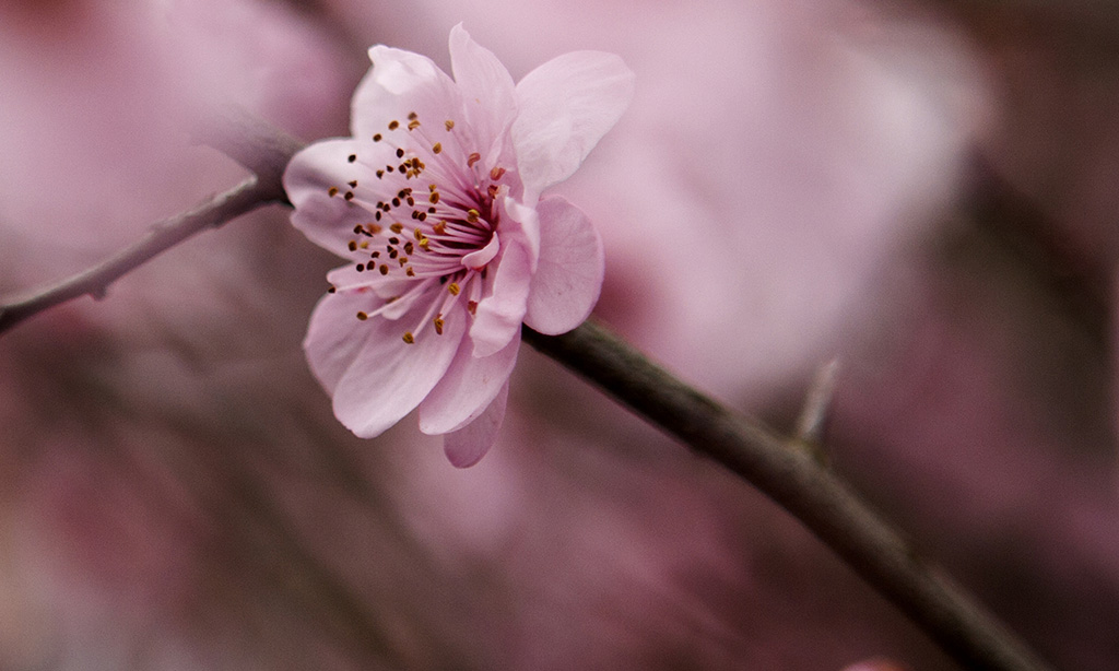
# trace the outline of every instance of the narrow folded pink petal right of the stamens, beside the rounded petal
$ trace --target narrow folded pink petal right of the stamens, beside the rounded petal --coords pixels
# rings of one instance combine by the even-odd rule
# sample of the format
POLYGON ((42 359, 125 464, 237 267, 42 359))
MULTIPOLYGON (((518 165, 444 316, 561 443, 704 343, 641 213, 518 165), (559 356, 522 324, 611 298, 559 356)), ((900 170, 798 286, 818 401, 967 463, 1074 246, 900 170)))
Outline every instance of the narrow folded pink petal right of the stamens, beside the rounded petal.
POLYGON ((474 357, 489 357, 520 333, 528 289, 533 278, 532 258, 525 242, 507 240, 495 264, 490 264, 490 294, 483 296, 470 327, 474 357))

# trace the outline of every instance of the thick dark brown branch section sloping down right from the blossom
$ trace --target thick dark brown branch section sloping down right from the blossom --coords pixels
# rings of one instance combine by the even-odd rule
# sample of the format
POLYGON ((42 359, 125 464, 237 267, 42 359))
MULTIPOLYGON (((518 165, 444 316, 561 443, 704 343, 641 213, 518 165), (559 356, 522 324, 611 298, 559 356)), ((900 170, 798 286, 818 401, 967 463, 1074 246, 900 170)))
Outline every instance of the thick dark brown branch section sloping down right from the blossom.
POLYGON ((737 473, 796 516, 963 668, 1047 669, 793 442, 731 413, 592 322, 563 336, 540 336, 527 327, 523 332, 534 348, 737 473))

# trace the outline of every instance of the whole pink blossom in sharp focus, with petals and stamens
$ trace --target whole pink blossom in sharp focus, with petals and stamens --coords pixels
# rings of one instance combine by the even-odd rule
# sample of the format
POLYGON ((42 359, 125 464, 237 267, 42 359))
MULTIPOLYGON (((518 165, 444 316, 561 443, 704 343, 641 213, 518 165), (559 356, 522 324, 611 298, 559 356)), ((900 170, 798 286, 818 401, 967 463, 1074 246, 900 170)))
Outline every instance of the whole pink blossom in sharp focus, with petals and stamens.
POLYGON ((373 437, 420 408, 457 466, 496 438, 520 325, 556 334, 594 306, 602 243, 558 197, 621 116, 633 75, 577 51, 518 84, 461 26, 454 78, 376 46, 351 107, 352 138, 308 147, 284 186, 292 223, 349 259, 303 342, 335 415, 373 437))

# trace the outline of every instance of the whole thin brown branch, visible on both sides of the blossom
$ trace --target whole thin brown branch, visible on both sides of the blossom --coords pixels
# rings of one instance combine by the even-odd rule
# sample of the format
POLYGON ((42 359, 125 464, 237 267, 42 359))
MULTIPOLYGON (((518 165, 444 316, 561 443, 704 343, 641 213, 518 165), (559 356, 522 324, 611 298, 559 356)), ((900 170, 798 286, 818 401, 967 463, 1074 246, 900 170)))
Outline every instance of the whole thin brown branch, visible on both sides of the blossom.
MULTIPOLYGON (((281 176, 299 148, 298 141, 243 114, 227 117, 224 123, 200 133, 203 140, 253 170, 256 178, 198 209, 153 226, 139 243, 84 273, 28 299, 0 305, 0 332, 64 301, 103 295, 113 281, 196 233, 261 205, 285 201, 281 176)), ((784 441, 731 413, 591 322, 557 337, 526 328, 524 337, 695 452, 753 483, 965 668, 1047 671, 1010 632, 927 565, 845 483, 807 451, 797 448, 796 438, 784 441)), ((822 417, 822 412, 809 413, 822 417)))

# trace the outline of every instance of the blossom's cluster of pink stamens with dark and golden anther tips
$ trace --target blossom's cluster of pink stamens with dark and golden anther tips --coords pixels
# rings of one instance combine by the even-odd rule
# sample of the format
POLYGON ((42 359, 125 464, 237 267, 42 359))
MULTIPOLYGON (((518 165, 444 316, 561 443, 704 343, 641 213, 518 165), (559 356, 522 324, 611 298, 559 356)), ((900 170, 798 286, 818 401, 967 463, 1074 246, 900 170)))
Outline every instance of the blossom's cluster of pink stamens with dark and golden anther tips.
POLYGON ((357 272, 378 273, 384 282, 403 281, 399 294, 373 312, 358 312, 357 319, 394 319, 421 301, 427 303, 423 320, 404 332, 407 343, 429 324, 442 334, 443 315, 460 297, 472 315, 489 263, 500 251, 497 199, 508 190, 501 183, 506 170, 485 170, 481 154, 455 131, 454 121, 442 126, 436 131, 442 138, 434 139, 414 112, 406 124, 391 121, 386 132, 373 135, 378 147, 369 153, 376 164, 356 153, 347 157, 356 172, 373 174, 376 181, 354 179, 346 189, 328 189, 330 197, 340 196, 370 214, 369 221, 354 227, 345 253, 356 259, 357 272), (386 148, 392 159, 382 164, 386 148))

